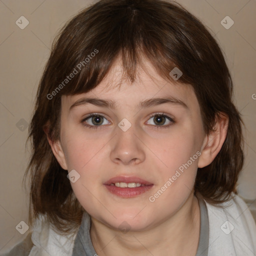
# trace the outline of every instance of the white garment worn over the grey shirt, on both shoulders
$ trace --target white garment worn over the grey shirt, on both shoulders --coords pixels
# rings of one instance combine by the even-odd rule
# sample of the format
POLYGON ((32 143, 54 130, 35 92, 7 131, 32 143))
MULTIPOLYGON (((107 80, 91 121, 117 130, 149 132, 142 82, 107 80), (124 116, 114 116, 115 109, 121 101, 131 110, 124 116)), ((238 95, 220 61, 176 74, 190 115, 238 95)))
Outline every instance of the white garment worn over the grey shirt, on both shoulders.
MULTIPOLYGON (((209 220, 208 256, 256 255, 255 221, 246 203, 238 195, 232 196, 233 199, 221 204, 222 208, 204 200, 209 220)), ((34 246, 29 256, 71 256, 75 235, 57 234, 41 217, 33 229, 34 246)))

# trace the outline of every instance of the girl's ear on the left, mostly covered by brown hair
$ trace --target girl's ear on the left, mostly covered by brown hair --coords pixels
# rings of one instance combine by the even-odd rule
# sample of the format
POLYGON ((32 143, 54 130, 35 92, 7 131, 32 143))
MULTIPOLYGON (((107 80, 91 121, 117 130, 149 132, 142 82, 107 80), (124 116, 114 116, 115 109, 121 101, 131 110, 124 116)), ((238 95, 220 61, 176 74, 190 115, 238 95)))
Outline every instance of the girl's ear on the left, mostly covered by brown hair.
POLYGON ((55 158, 57 159, 58 163, 60 164, 60 166, 62 167, 62 169, 65 169, 67 170, 67 164, 66 164, 66 159, 65 159, 65 154, 63 152, 63 149, 62 149, 62 146, 61 146, 61 143, 60 143, 60 140, 55 140, 55 141, 52 141, 50 138, 49 138, 49 135, 48 135, 48 131, 49 131, 49 122, 47 122, 44 127, 43 127, 43 130, 47 136, 47 140, 48 140, 48 143, 51 147, 51 150, 52 150, 52 153, 54 154, 55 158))

